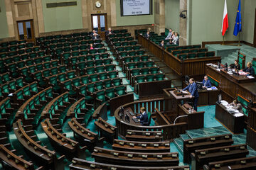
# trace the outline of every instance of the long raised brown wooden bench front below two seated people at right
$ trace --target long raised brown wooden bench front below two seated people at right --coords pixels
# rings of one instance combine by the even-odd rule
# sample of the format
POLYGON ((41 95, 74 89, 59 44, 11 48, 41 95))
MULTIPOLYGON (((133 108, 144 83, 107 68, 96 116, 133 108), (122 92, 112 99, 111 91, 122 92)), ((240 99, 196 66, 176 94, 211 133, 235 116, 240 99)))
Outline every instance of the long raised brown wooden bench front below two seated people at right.
POLYGON ((256 82, 242 76, 230 76, 225 72, 218 72, 213 66, 206 66, 206 74, 219 82, 218 88, 221 90, 223 100, 231 102, 237 98, 238 94, 248 101, 256 101, 256 82))

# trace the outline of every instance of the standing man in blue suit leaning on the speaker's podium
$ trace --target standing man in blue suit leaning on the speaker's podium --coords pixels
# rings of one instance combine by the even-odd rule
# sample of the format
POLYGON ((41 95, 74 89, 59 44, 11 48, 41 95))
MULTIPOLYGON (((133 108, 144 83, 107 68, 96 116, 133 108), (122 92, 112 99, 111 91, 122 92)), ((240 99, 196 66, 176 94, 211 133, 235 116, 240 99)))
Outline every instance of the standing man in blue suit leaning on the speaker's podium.
POLYGON ((196 82, 194 81, 193 78, 189 79, 188 86, 186 86, 183 89, 183 91, 186 91, 186 90, 188 90, 189 93, 191 93, 190 98, 194 97, 193 108, 195 109, 195 111, 197 111, 197 103, 198 103, 199 94, 198 94, 198 87, 197 87, 196 82))

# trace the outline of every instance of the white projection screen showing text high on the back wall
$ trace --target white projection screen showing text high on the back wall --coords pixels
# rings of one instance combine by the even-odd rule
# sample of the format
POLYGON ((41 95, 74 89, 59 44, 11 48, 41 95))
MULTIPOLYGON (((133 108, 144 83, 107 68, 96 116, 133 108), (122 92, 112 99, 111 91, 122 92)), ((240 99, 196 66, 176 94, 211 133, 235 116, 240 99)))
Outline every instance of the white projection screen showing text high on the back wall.
POLYGON ((152 0, 120 0, 121 16, 142 16, 152 14, 152 0))

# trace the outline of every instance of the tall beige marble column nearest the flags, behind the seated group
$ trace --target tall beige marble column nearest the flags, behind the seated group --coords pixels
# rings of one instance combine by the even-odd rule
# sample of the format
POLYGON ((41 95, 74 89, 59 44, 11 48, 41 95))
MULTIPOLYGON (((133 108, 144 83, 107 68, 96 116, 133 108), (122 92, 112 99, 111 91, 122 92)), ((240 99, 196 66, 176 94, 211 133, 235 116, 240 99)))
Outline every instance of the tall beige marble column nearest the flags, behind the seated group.
MULTIPOLYGON (((180 12, 187 10, 187 0, 180 0, 180 12)), ((183 12, 186 16, 187 13, 183 12)), ((187 42, 187 18, 180 18, 179 45, 186 45, 187 42)))

